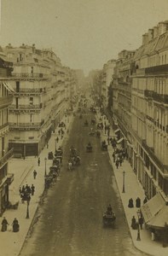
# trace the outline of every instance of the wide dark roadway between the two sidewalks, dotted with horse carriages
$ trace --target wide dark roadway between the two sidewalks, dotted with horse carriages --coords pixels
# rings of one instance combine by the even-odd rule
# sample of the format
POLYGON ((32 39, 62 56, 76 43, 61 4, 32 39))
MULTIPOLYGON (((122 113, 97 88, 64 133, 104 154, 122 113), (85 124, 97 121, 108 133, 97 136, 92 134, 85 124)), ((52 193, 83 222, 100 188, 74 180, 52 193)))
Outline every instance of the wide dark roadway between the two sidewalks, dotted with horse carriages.
POLYGON ((74 118, 69 137, 63 143, 63 165, 57 182, 49 188, 38 208, 34 225, 20 256, 99 256, 146 255, 133 247, 119 190, 107 152, 101 151, 101 139, 90 137, 93 118, 85 113, 74 118), (93 152, 86 153, 88 142, 93 152), (76 148, 81 165, 67 171, 70 148, 76 148), (117 219, 115 228, 104 228, 102 214, 111 203, 117 219))

